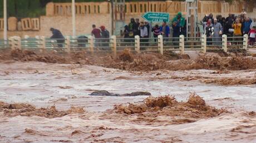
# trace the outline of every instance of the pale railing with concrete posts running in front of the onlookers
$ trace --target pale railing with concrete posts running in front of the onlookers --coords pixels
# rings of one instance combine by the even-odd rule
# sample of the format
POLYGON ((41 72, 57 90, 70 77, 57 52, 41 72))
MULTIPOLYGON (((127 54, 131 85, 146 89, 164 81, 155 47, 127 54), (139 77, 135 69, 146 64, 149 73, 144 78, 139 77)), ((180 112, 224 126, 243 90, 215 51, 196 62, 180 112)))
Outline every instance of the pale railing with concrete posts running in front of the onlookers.
POLYGON ((241 50, 248 48, 248 35, 243 37, 163 37, 159 35, 155 38, 63 38, 50 39, 45 37, 24 38, 11 37, 8 40, 0 39, 0 49, 32 49, 32 50, 56 50, 57 52, 77 52, 87 50, 88 52, 121 52, 130 49, 132 52, 159 52, 178 51, 184 54, 188 50, 199 50, 206 53, 209 50, 241 50))

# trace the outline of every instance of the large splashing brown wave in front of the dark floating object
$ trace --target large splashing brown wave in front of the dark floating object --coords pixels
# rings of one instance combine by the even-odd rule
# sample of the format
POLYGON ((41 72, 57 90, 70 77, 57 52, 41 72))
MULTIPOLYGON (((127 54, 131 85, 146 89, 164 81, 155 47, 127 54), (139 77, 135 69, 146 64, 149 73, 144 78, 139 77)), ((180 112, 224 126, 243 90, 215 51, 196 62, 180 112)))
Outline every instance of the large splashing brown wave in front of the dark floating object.
POLYGON ((146 124, 184 124, 213 118, 221 113, 227 113, 227 110, 208 106, 200 96, 191 94, 187 102, 178 102, 173 96, 161 96, 146 98, 140 104, 115 105, 105 115, 113 117, 113 114, 119 114, 116 116, 122 119, 133 119, 134 122, 146 124))

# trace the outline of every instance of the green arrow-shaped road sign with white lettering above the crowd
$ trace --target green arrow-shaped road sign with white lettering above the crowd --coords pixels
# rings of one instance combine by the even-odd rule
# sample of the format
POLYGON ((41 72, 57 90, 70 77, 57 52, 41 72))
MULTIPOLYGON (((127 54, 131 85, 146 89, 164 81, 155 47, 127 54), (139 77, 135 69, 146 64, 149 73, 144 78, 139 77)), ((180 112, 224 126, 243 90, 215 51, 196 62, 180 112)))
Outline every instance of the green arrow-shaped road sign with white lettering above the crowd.
POLYGON ((147 12, 142 16, 147 22, 169 22, 169 13, 147 12))

